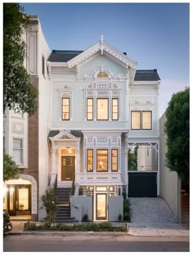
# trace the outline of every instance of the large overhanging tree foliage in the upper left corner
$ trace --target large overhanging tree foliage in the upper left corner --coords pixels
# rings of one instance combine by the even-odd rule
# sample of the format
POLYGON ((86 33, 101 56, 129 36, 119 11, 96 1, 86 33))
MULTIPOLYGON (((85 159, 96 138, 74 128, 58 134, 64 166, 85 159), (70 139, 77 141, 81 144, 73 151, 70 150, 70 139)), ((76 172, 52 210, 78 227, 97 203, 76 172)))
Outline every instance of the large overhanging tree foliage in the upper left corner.
POLYGON ((19 3, 3 4, 3 110, 8 107, 30 116, 38 107, 38 91, 23 65, 25 42, 21 35, 28 23, 19 3))

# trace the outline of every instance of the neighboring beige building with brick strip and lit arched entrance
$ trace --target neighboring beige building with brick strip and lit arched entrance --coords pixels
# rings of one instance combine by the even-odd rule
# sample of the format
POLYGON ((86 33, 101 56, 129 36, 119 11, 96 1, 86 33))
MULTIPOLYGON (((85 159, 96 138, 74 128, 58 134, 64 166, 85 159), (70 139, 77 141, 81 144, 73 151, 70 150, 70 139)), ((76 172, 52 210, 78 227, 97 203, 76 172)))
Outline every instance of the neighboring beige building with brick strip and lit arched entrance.
POLYGON ((12 216, 31 215, 38 219, 40 192, 47 188, 47 57, 50 49, 43 36, 38 16, 29 16, 22 38, 26 43, 25 68, 38 89, 38 111, 30 118, 25 113, 6 110, 3 115, 3 146, 20 168, 20 178, 4 183, 3 208, 12 216), (42 111, 41 111, 42 110, 42 111), (41 160, 44 159, 44 160, 41 160), (39 186, 41 184, 41 186, 39 186))

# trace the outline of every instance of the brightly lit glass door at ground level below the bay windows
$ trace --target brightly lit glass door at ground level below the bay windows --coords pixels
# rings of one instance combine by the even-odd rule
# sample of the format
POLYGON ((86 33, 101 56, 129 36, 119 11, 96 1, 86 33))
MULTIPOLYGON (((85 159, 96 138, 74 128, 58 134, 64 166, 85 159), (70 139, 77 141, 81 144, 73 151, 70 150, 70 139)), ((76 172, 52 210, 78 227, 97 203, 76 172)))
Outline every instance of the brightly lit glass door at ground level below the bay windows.
POLYGON ((96 194, 96 220, 106 220, 106 194, 96 194))

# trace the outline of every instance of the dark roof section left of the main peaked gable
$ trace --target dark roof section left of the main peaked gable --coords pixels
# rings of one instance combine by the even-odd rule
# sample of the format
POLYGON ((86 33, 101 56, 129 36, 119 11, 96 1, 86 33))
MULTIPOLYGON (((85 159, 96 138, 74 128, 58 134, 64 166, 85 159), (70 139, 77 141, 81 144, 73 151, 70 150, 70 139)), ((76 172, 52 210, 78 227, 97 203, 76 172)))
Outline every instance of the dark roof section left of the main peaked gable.
POLYGON ((75 56, 78 56, 83 51, 57 51, 52 50, 51 55, 47 61, 51 62, 67 62, 73 59, 75 56))

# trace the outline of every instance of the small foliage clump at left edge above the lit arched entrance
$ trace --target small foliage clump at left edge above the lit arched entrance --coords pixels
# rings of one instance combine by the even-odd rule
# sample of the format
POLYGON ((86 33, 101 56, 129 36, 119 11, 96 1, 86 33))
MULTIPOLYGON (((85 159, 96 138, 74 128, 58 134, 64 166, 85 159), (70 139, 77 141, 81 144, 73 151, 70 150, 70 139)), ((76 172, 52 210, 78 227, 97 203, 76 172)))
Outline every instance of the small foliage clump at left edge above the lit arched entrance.
POLYGON ((10 155, 3 150, 3 182, 19 178, 20 169, 17 167, 10 155))

